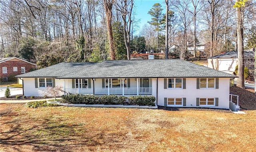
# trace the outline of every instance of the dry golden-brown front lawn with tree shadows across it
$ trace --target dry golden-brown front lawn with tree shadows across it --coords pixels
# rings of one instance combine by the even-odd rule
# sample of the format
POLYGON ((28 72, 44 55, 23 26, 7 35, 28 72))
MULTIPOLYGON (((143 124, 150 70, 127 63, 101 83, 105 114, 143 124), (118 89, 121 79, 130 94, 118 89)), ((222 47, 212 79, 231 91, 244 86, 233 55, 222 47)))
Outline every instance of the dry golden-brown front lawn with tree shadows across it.
POLYGON ((0 151, 256 151, 256 111, 0 105, 0 151))

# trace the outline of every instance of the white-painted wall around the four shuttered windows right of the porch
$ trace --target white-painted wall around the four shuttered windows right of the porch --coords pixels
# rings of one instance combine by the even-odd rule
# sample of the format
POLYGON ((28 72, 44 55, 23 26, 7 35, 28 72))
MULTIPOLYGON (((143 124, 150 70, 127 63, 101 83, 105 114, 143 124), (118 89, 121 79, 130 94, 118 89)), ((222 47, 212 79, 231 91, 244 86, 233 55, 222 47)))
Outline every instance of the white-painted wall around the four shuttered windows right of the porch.
POLYGON ((164 89, 164 78, 158 78, 158 105, 164 106, 164 98, 186 98, 186 107, 196 107, 196 98, 219 98, 218 107, 229 109, 230 78, 219 78, 219 89, 196 89, 196 78, 186 78, 186 89, 164 89))

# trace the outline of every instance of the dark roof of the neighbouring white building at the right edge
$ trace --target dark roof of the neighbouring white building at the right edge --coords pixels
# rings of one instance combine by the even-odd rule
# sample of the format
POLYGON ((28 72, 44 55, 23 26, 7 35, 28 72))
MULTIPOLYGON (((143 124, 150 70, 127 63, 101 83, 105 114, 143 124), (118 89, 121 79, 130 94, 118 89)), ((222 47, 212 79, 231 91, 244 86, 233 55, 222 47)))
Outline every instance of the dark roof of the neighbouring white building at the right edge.
MULTIPOLYGON (((209 57, 209 59, 215 59, 215 58, 238 58, 237 51, 228 51, 223 54, 215 55, 212 57, 209 57)), ((244 51, 244 58, 254 58, 254 51, 244 51)))

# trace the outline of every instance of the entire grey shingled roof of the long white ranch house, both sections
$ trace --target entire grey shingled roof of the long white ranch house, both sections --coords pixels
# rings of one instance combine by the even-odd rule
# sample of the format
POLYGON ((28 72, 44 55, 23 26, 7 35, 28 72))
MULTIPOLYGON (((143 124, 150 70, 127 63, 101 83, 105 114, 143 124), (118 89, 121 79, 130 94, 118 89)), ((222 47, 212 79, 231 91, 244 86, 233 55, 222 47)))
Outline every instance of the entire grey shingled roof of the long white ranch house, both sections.
POLYGON ((137 78, 236 77, 180 59, 107 60, 100 63, 58 63, 16 77, 137 78))

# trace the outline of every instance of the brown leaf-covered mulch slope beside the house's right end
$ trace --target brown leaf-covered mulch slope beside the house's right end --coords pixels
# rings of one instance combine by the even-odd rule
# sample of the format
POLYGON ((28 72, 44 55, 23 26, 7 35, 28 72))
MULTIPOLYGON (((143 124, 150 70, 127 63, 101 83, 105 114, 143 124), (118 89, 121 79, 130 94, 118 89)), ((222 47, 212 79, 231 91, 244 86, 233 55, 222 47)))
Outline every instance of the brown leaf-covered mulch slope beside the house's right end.
MULTIPOLYGON (((241 110, 256 110, 256 95, 254 89, 242 89, 240 87, 230 87, 230 94, 239 95, 239 105, 241 110)), ((232 99, 236 101, 235 99, 232 99)))

